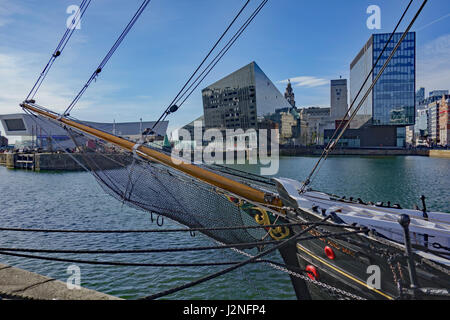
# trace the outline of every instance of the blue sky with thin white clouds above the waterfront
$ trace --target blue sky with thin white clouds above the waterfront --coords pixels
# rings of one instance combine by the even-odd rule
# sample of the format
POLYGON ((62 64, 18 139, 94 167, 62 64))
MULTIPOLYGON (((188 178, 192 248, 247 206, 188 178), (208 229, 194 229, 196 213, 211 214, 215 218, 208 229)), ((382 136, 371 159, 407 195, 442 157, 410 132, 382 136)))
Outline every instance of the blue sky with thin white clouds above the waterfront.
MULTIPOLYGON (((62 112, 131 19, 141 0, 92 0, 81 28, 57 59, 37 103, 62 112)), ((261 0, 251 0, 243 22, 261 0)), ((228 54, 168 120, 169 130, 203 114, 201 89, 256 61, 284 92, 291 79, 298 106, 329 106, 331 79, 348 78, 350 62, 372 33, 392 32, 409 0, 269 0, 228 54), (370 30, 367 8, 380 7, 370 30)), ((0 0, 0 114, 19 113, 81 0, 0 0)), ((152 0, 71 113, 98 122, 158 118, 245 0, 152 0)), ((403 31, 420 7, 414 0, 403 31)), ((236 28, 241 23, 236 24, 236 28)), ((417 88, 450 89, 450 7, 429 0, 417 32, 417 88)), ((233 29, 235 30, 235 29, 233 29)), ((231 36, 231 33, 230 33, 231 36)), ((227 38, 228 39, 228 38, 227 38)), ((1 130, 0 126, 0 130, 1 130)))

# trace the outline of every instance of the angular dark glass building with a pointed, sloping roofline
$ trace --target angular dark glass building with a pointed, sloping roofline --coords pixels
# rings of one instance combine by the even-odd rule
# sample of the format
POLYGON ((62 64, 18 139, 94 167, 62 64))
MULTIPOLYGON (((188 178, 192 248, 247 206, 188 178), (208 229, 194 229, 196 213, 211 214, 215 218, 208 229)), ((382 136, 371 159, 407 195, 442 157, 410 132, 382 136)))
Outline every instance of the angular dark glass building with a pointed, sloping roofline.
POLYGON ((292 107, 256 62, 203 89, 202 96, 207 129, 258 129, 264 116, 292 107))

